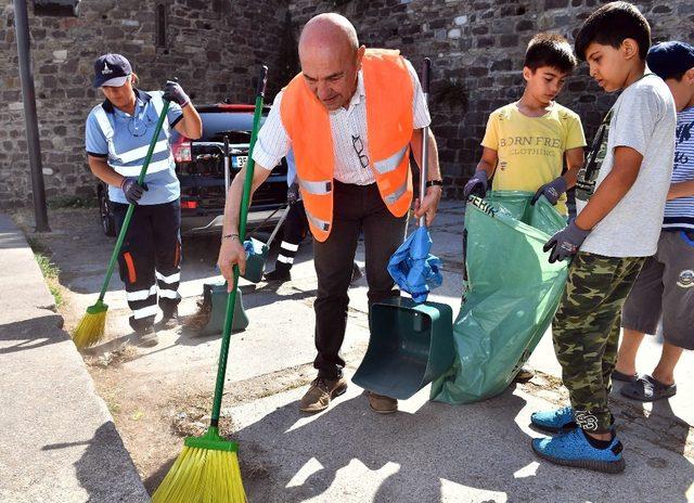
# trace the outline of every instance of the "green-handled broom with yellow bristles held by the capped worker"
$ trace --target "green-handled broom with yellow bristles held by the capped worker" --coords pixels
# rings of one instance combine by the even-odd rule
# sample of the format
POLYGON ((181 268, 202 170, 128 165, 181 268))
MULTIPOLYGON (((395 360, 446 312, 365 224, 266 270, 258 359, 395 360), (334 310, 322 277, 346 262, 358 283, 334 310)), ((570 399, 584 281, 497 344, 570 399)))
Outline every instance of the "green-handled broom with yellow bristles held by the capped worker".
MULTIPOLYGON (((140 176, 138 177, 138 183, 140 185, 142 185, 142 183, 144 182, 144 177, 147 173, 147 167, 150 166, 150 160, 152 159, 152 154, 154 152, 154 147, 156 146, 156 142, 159 139, 159 133, 162 132, 162 127, 164 126, 166 114, 169 111, 169 105, 170 103, 164 100, 164 108, 162 109, 162 115, 159 116, 159 120, 156 122, 156 128, 154 129, 152 141, 150 142, 147 155, 144 158, 144 164, 142 165, 142 169, 140 170, 140 176)), ((118 254, 120 253, 120 247, 123 246, 123 242, 126 238, 126 233, 128 232, 128 227, 130 227, 130 219, 132 218, 132 211, 134 211, 136 206, 137 205, 131 203, 128 207, 128 212, 126 214, 126 218, 123 221, 123 227, 120 228, 120 233, 118 234, 118 241, 116 241, 116 246, 114 247, 113 254, 111 255, 111 262, 108 262, 106 278, 104 279, 104 284, 101 286, 101 293, 99 294, 97 304, 87 308, 87 313, 82 317, 79 324, 73 332, 73 341, 79 349, 93 346, 104 335, 106 328, 106 312, 108 311, 108 306, 104 304, 104 296, 106 295, 108 282, 111 281, 111 275, 113 274, 116 261, 118 260, 118 254)))

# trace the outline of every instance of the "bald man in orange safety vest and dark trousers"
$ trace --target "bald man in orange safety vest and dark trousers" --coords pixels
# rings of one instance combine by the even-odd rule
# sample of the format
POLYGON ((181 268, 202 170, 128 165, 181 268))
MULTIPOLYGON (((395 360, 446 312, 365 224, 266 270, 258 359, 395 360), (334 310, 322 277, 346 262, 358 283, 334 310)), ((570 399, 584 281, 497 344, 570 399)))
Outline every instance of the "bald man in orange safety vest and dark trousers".
MULTIPOLYGON (((410 153, 420 163, 423 128, 430 122, 416 72, 399 51, 359 46, 338 14, 311 18, 299 39, 301 73, 277 95, 258 136, 254 189, 290 149, 311 233, 318 276, 318 377, 299 403, 305 412, 329 407, 347 389, 339 356, 347 324, 347 291, 359 235, 365 247, 369 305, 399 295, 387 265, 402 243, 412 205, 410 153)), ((415 216, 429 224, 441 197, 436 141, 430 133, 427 191, 415 216)), ((244 173, 230 188, 219 268, 233 282, 245 268, 239 233, 244 173)), ((371 392, 371 408, 397 411, 397 400, 371 392)))

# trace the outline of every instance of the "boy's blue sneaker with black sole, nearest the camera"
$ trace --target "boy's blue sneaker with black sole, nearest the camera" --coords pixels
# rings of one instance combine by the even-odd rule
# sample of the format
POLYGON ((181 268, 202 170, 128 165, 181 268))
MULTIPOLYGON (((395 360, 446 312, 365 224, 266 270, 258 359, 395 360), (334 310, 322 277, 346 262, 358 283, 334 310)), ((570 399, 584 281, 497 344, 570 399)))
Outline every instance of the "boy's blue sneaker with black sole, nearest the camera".
POLYGON ((581 428, 574 428, 554 438, 536 438, 532 450, 552 463, 577 468, 594 469, 606 474, 618 474, 625 469, 621 455, 624 447, 615 436, 607 449, 595 449, 581 428))

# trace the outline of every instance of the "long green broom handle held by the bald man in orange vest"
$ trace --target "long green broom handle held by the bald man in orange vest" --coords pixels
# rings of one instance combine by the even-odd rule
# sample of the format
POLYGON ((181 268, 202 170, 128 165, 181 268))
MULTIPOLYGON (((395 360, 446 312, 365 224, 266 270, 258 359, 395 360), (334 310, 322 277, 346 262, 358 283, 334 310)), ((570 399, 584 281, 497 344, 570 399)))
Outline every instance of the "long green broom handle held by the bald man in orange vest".
MULTIPOLYGON (((262 116, 262 102, 265 99, 265 88, 268 82, 268 67, 262 66, 258 77, 256 89, 256 108, 253 116, 253 130, 250 131, 250 144, 248 146, 248 160, 246 163, 246 177, 243 182, 243 196, 241 197, 241 209, 239 216, 239 235, 246 235, 246 220, 248 218, 248 206, 250 203, 250 188, 253 185, 253 172, 255 160, 253 160, 253 150, 258 139, 260 129, 260 118, 262 116)), ((215 385, 215 401, 213 403, 213 414, 209 425, 213 428, 219 426, 219 414, 221 412, 221 397, 224 391, 224 378, 227 375, 227 359, 229 357, 229 340, 231 339, 231 326, 234 320, 234 308, 236 307, 236 288, 239 285, 239 266, 234 266, 234 287, 227 299, 227 314, 221 335, 221 348, 219 350, 219 365, 217 366, 217 384, 215 385)))

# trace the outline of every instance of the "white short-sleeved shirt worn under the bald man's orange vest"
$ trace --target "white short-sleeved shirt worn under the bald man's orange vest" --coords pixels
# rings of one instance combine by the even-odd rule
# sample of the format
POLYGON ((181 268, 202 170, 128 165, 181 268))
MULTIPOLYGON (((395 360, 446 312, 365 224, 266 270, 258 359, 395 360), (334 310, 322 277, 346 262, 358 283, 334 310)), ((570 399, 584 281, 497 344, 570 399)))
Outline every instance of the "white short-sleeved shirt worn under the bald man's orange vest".
MULTIPOLYGON (((429 111, 422 92, 422 86, 412 64, 404 60, 412 86, 414 98, 412 100, 414 129, 422 129, 432 122, 429 111)), ((292 147, 280 114, 283 91, 280 91, 272 103, 272 109, 262 125, 258 134, 258 141, 253 152, 255 162, 266 169, 277 166, 292 147)), ((357 91, 347 108, 338 108, 330 112, 330 127, 333 133, 335 152, 335 180, 343 183, 369 185, 376 181, 373 170, 363 168, 354 146, 354 139, 359 137, 363 142, 362 155, 369 156, 369 140, 367 138, 367 95, 361 70, 357 76, 357 91)))

